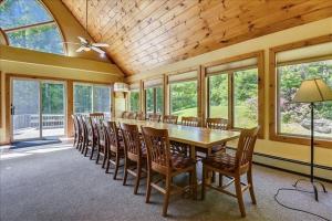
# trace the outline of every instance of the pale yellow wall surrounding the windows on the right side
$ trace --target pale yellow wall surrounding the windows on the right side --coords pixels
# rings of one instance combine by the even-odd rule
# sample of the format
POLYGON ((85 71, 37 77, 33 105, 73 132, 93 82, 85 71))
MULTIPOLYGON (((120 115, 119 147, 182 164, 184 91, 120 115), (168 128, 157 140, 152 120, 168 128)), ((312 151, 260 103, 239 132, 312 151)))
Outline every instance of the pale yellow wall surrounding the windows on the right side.
MULTIPOLYGON (((308 162, 310 160, 310 149, 308 146, 292 145, 287 143, 277 143, 268 139, 269 137, 269 49, 295 41, 301 41, 310 38, 332 34, 332 17, 317 22, 308 23, 301 27, 295 27, 277 33, 268 34, 261 38, 252 39, 242 43, 230 45, 220 50, 205 53, 185 61, 164 65, 154 70, 144 71, 134 76, 129 76, 126 81, 135 82, 142 78, 149 78, 163 73, 175 72, 186 67, 197 66, 204 63, 232 57, 249 52, 263 50, 264 51, 264 71, 266 71, 266 116, 264 116, 264 135, 266 139, 258 140, 256 151, 271 156, 295 159, 308 162)), ((332 52, 332 49, 331 49, 332 52)), ((269 162, 266 162, 269 164, 269 162)), ((271 162, 272 164, 272 162, 271 162)), ((332 167, 332 147, 315 148, 315 164, 332 167)), ((290 168, 288 168, 290 169, 290 168)), ((308 169, 304 170, 309 171, 308 169)), ((322 175, 332 179, 331 171, 329 175, 322 175)))

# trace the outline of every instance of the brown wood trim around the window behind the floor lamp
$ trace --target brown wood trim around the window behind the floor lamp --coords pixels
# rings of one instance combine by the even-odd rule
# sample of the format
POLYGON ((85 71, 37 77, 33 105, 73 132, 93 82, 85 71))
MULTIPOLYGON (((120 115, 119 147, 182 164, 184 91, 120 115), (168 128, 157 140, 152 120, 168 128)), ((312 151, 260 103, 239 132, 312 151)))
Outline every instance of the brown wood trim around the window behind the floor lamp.
MULTIPOLYGON (((313 39, 302 40, 289 44, 279 45, 276 48, 271 48, 269 51, 269 72, 270 72, 270 115, 269 115, 269 138, 273 141, 281 141, 281 143, 290 143, 290 144, 298 144, 298 145, 310 145, 310 137, 299 137, 295 135, 286 135, 278 133, 278 73, 277 73, 277 61, 276 55, 282 51, 289 51, 292 49, 300 49, 304 46, 311 46, 315 44, 326 43, 332 41, 332 34, 322 35, 313 39)), ((312 59, 312 57, 309 57, 312 59)), ((315 138, 314 145, 323 148, 332 149, 332 140, 315 138)))

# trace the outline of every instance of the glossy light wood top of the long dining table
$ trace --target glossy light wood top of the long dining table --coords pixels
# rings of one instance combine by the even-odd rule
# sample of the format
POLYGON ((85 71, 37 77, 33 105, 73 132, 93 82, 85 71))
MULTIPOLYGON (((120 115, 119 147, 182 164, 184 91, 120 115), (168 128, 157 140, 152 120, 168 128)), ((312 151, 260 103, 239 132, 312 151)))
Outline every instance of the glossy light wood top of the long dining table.
POLYGON ((240 137, 239 131, 209 129, 204 127, 189 127, 183 125, 154 123, 148 120, 112 118, 112 122, 153 127, 157 129, 168 129, 169 139, 197 147, 211 148, 215 145, 222 144, 240 137))

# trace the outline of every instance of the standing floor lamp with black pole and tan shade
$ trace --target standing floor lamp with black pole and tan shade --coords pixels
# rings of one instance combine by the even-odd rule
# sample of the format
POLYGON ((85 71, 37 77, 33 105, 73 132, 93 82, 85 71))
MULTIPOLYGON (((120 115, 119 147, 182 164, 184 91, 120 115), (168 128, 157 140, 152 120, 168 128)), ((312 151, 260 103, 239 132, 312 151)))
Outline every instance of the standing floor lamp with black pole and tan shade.
MULTIPOLYGON (((311 108, 311 161, 310 161, 310 182, 313 188, 314 199, 318 201, 318 188, 317 185, 320 185, 324 192, 326 189, 322 182, 314 181, 313 177, 313 156, 314 156, 314 103, 317 102, 326 102, 332 101, 332 90, 325 84, 321 78, 307 80, 301 83, 300 88, 298 90, 293 102, 294 103, 309 103, 311 108)), ((293 186, 297 188, 300 181, 298 180, 293 186)))

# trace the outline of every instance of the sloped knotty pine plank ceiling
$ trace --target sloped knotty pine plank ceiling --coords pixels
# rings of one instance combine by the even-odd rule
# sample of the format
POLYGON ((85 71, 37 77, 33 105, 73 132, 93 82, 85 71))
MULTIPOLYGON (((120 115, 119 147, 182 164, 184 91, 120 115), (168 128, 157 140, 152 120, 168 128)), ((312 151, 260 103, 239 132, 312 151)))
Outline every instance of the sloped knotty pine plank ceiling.
MULTIPOLYGON (((62 1, 85 27, 86 0, 62 1)), ((332 14, 332 0, 87 1, 89 33, 127 75, 332 14)))

